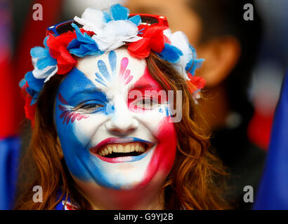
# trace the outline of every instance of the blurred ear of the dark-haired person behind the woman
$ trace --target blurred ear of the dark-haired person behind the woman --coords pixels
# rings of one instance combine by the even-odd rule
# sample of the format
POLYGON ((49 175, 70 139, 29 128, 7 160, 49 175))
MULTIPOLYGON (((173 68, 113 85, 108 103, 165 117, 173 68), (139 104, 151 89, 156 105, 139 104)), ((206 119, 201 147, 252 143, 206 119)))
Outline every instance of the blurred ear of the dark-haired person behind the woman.
POLYGON ((233 36, 214 38, 198 46, 198 57, 205 59, 198 73, 205 78, 207 87, 225 80, 237 64, 240 51, 240 43, 233 36))

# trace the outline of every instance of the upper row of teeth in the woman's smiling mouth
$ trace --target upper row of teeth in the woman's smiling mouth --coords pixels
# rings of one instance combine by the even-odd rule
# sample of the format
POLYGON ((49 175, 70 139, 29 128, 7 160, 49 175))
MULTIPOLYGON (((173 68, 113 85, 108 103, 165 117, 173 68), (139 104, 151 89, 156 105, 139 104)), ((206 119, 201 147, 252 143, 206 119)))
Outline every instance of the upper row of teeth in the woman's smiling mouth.
POLYGON ((102 150, 98 151, 98 154, 100 156, 105 156, 105 155, 110 155, 112 153, 130 153, 134 151, 139 152, 139 153, 144 153, 145 146, 143 146, 143 144, 140 144, 138 142, 129 143, 129 144, 110 144, 110 145, 107 145, 102 150))

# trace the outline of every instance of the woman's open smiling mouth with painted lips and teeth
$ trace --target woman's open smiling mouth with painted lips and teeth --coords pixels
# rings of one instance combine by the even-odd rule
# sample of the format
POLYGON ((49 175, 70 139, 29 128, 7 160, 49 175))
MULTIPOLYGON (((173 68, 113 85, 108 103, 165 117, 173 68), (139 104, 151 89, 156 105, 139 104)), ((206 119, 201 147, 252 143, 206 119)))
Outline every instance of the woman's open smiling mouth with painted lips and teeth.
POLYGON ((125 160, 129 160, 128 158, 141 158, 139 155, 144 156, 154 145, 149 141, 136 138, 111 138, 100 142, 96 147, 91 148, 90 151, 93 155, 97 155, 105 159, 105 161, 112 162, 122 159, 124 161, 124 158, 126 158, 125 160))

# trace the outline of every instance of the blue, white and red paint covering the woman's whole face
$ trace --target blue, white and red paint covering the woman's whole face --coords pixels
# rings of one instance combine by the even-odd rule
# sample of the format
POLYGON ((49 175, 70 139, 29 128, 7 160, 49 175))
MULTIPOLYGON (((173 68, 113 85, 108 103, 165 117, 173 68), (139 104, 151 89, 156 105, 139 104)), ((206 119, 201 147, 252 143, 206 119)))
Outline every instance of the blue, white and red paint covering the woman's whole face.
POLYGON ((176 131, 166 100, 145 96, 151 90, 162 87, 145 59, 131 57, 125 48, 78 60, 55 102, 56 129, 74 178, 105 188, 135 189, 169 174, 176 131), (129 99, 133 91, 143 97, 129 99))

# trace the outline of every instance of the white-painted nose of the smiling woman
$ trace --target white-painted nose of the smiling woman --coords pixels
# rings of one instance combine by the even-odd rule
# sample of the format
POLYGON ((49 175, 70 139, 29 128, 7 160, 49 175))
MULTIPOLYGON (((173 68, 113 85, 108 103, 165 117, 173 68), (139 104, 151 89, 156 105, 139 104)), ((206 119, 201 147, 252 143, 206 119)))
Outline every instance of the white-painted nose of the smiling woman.
POLYGON ((105 127, 113 134, 127 135, 137 129, 138 121, 124 102, 115 102, 112 117, 105 123, 105 127))

